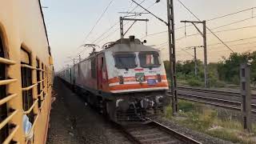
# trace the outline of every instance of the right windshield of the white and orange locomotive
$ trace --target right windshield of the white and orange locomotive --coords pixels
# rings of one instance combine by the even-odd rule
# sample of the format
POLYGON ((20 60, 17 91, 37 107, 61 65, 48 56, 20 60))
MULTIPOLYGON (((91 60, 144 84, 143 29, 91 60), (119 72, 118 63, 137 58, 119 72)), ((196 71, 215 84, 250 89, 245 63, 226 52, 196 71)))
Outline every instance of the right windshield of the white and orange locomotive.
POLYGON ((159 54, 157 52, 141 52, 138 54, 139 61, 142 67, 158 67, 159 54))

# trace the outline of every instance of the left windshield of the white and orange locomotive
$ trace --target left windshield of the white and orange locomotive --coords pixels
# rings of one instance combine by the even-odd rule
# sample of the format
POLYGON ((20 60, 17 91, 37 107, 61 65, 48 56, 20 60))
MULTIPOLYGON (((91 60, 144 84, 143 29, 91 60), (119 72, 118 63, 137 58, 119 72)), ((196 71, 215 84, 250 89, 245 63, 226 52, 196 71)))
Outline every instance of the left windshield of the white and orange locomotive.
POLYGON ((132 69, 137 67, 135 61, 136 55, 135 54, 115 54, 114 55, 114 62, 115 66, 118 69, 132 69))

